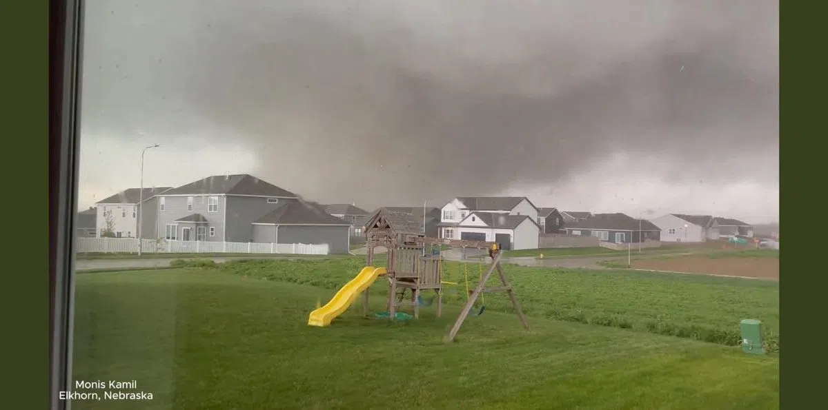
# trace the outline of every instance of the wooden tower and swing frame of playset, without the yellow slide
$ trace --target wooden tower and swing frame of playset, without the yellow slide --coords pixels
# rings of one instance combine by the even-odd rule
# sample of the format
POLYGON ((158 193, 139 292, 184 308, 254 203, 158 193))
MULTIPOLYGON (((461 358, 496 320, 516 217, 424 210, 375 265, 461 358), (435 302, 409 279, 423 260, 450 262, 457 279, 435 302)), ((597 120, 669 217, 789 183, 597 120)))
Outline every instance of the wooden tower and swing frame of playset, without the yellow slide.
MULTIPOLYGON (((388 317, 394 320, 397 308, 410 306, 414 310, 414 318, 420 316, 421 293, 433 291, 436 293, 436 315, 442 314, 443 286, 447 284, 442 277, 443 259, 440 255, 426 252, 426 247, 456 246, 465 249, 472 248, 488 251, 491 263, 485 274, 479 277, 479 283, 470 290, 469 298, 460 311, 455 325, 451 327, 446 341, 453 341, 463 322, 469 316, 474 303, 483 293, 506 292, 512 301, 517 317, 524 328, 528 329, 526 317, 523 315, 520 304, 509 284, 508 278, 500 265, 500 247, 496 242, 447 240, 427 238, 421 233, 419 223, 410 215, 398 212, 381 211, 373 215, 364 226, 367 247, 367 264, 374 266, 374 251, 382 246, 388 253, 388 317), (493 272, 497 270, 502 286, 489 287, 485 285, 493 272), (411 300, 404 298, 405 291, 411 291, 411 300)), ((368 314, 368 290, 363 293, 363 313, 368 314)))

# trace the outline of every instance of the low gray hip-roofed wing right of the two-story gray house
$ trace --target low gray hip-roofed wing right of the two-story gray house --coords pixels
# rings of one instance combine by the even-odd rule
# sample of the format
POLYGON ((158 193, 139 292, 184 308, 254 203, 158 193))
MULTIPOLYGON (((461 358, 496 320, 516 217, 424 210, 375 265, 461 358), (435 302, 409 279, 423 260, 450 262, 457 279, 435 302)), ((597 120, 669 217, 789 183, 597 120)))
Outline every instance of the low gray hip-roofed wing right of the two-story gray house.
POLYGON ((327 244, 330 254, 346 254, 352 224, 330 215, 317 203, 291 201, 253 222, 253 242, 327 244))

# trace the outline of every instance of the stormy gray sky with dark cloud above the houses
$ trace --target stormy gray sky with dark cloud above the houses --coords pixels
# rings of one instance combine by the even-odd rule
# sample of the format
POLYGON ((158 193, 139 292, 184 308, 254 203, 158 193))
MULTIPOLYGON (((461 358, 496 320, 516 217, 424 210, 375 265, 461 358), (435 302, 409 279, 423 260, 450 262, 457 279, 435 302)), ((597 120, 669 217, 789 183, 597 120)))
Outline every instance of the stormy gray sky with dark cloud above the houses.
POLYGON ((322 203, 774 222, 778 2, 96 0, 79 206, 253 174, 322 203))

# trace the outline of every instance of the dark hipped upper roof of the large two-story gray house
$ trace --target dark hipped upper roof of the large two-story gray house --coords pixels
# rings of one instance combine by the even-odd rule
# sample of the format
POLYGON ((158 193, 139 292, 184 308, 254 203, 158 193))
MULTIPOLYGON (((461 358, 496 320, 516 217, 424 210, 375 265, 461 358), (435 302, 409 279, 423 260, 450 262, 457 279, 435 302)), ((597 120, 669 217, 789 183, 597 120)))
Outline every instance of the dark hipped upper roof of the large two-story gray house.
POLYGON ((181 185, 165 192, 167 195, 255 195, 260 197, 299 198, 276 185, 249 174, 214 175, 181 185))

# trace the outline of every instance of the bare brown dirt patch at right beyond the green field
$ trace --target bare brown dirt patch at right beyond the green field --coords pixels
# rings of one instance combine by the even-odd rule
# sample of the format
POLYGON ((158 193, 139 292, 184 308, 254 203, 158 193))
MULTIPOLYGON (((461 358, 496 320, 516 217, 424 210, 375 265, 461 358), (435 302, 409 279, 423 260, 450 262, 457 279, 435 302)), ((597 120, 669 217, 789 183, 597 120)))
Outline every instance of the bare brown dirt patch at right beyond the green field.
POLYGON ((775 258, 713 259, 706 256, 685 256, 661 260, 634 260, 633 268, 779 280, 779 260, 775 258))

